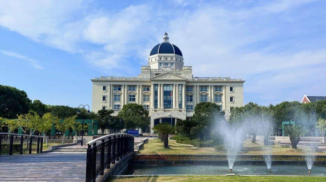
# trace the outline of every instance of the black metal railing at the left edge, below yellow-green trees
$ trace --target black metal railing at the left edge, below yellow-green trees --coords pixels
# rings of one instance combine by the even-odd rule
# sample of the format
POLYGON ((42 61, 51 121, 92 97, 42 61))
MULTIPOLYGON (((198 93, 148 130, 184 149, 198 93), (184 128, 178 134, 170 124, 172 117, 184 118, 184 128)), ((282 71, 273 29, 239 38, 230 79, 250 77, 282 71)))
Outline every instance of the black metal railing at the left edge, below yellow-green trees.
POLYGON ((42 153, 43 136, 0 133, 0 155, 42 153))

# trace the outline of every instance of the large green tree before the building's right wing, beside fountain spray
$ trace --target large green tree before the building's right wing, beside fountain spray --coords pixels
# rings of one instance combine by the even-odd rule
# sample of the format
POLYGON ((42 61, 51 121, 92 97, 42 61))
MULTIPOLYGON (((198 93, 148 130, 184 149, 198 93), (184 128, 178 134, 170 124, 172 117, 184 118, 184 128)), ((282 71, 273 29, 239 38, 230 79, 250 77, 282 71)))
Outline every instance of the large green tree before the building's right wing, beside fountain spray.
POLYGON ((221 111, 219 106, 211 102, 198 103, 194 109, 194 114, 191 120, 194 120, 198 126, 196 130, 193 130, 191 136, 202 136, 201 140, 212 139, 212 128, 214 128, 216 120, 224 120, 224 111, 221 111), (196 134, 195 134, 196 131, 196 134), (198 133, 201 132, 201 133, 198 133))

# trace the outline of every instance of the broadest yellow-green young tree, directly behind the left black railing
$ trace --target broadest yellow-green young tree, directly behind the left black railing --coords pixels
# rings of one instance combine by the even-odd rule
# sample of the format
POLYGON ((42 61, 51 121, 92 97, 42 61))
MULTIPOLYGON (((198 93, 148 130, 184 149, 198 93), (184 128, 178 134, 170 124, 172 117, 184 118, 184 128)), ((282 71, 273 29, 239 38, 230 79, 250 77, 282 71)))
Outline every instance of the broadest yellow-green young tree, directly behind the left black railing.
POLYGON ((35 111, 30 111, 23 115, 17 115, 17 117, 19 127, 27 135, 32 135, 42 123, 42 118, 35 111))

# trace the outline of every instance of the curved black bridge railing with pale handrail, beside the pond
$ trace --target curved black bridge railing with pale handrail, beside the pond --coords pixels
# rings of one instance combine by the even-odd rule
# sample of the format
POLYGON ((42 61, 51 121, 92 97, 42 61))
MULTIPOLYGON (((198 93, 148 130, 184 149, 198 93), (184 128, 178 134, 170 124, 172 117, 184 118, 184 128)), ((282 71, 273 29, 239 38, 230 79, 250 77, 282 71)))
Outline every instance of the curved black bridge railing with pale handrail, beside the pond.
POLYGON ((88 142, 87 147, 86 182, 93 182, 98 175, 104 175, 104 169, 110 168, 115 160, 134 152, 134 137, 129 134, 105 135, 88 142))

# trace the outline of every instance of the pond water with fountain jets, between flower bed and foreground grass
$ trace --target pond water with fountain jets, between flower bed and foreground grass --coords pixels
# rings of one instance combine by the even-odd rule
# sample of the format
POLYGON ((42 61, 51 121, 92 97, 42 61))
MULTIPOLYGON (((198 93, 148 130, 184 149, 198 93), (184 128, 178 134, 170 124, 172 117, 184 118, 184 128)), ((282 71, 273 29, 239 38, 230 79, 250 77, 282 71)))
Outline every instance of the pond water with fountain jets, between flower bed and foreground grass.
MULTIPOLYGON (((306 165, 272 165, 268 173, 266 165, 234 165, 236 175, 305 175, 326 176, 326 166, 314 166, 308 173, 306 165)), ((124 175, 225 175, 228 165, 128 165, 124 175)))

